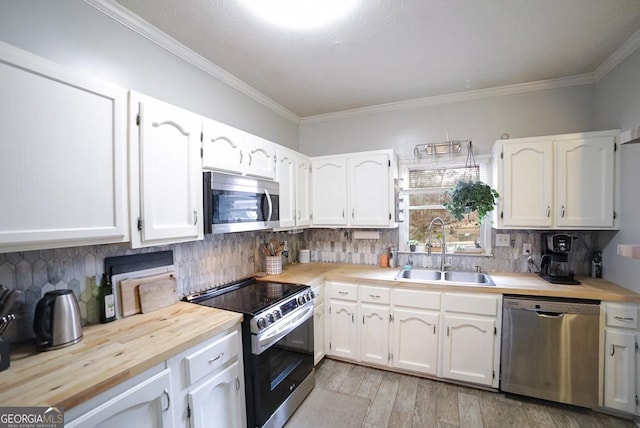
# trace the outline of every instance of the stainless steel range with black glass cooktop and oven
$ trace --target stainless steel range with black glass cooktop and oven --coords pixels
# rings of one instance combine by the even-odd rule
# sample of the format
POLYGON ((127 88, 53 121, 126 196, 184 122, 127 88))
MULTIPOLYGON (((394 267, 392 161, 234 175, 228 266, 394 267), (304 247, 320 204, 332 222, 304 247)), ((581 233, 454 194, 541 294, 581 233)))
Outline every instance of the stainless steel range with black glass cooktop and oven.
POLYGON ((283 426, 315 386, 311 288, 250 278, 185 300, 244 314, 247 426, 283 426))

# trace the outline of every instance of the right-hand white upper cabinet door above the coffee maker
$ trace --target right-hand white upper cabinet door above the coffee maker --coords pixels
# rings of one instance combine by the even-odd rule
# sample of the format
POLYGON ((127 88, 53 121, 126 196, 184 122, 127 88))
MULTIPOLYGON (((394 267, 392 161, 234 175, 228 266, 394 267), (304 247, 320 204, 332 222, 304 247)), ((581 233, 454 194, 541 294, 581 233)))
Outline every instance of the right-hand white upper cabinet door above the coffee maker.
POLYGON ((558 227, 613 227, 613 137, 556 142, 558 227))

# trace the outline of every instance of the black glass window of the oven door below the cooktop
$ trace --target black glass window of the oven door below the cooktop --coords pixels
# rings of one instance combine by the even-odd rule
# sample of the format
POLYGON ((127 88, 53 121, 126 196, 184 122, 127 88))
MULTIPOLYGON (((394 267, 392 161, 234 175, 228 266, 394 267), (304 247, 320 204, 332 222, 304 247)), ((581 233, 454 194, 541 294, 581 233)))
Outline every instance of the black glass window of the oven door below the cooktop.
POLYGON ((313 317, 251 358, 256 424, 261 426, 313 369, 313 317))

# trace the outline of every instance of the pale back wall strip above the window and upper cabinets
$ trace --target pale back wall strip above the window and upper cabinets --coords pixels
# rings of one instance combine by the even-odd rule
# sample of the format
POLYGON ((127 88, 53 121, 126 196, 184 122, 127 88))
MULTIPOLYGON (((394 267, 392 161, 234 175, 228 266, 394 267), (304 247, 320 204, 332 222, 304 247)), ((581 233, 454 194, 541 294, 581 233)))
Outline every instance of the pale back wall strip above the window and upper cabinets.
POLYGON ((411 154, 416 144, 471 139, 489 153, 502 133, 512 138, 593 131, 593 85, 498 96, 303 124, 300 151, 310 155, 393 148, 411 154))

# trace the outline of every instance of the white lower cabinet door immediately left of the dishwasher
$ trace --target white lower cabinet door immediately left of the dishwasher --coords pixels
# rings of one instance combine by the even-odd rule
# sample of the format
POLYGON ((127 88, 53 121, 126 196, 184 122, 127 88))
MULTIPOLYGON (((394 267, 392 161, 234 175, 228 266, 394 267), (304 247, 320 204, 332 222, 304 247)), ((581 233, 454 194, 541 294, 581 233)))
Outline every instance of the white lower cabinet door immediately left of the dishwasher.
POLYGON ((495 319, 444 315, 441 376, 491 385, 495 325, 495 319))

